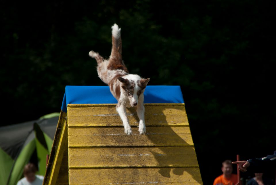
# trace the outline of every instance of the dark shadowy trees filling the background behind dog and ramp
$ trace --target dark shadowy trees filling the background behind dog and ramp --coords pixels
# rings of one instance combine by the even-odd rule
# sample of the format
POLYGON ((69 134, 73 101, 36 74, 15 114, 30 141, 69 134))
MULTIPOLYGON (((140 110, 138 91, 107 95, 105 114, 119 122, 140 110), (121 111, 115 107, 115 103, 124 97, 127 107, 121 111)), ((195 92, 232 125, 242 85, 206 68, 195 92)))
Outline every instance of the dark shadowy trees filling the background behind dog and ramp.
POLYGON ((181 86, 204 184, 276 150, 275 1, 0 2, 1 125, 60 112, 66 85, 104 85, 88 52, 107 58, 117 23, 131 73, 181 86))

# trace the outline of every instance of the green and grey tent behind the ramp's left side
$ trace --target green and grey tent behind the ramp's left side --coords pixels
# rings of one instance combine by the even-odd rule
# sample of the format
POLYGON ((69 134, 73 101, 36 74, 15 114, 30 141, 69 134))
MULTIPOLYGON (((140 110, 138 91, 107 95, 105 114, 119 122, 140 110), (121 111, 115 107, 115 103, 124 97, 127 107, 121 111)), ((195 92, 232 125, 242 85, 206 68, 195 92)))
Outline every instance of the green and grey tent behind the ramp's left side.
POLYGON ((15 185, 24 166, 35 155, 38 174, 44 176, 59 113, 38 120, 0 127, 0 184, 15 185))

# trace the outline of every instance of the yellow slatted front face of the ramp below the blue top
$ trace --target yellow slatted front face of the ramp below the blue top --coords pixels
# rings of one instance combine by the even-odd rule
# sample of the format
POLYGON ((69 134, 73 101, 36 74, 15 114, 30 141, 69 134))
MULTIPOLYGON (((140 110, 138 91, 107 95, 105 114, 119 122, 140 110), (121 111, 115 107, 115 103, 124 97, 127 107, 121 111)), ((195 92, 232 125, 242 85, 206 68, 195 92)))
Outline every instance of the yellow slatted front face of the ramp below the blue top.
POLYGON ((115 106, 68 104, 69 184, 203 184, 184 104, 145 104, 145 135, 127 109, 132 136, 115 106))

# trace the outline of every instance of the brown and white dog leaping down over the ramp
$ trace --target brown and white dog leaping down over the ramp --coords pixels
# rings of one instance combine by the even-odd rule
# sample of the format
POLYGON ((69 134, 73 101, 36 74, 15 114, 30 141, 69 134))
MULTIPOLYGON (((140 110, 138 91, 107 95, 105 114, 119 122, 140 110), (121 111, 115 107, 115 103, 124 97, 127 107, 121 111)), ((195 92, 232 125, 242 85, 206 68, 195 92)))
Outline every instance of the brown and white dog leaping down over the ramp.
POLYGON ((129 74, 127 67, 122 60, 122 40, 121 28, 117 24, 112 27, 112 50, 108 60, 94 51, 89 52, 89 56, 97 60, 97 72, 99 78, 109 85, 112 95, 118 100, 116 110, 119 113, 124 132, 132 134, 129 121, 127 119, 126 107, 135 107, 139 117, 139 133, 146 132, 144 90, 150 78, 143 79, 139 75, 129 74))

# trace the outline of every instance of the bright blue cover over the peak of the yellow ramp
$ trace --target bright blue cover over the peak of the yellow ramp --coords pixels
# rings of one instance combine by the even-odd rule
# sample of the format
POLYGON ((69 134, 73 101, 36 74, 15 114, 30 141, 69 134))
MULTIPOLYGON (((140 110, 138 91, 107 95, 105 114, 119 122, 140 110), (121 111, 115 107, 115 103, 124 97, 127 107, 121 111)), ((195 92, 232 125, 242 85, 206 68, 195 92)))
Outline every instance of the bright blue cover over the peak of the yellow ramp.
MULTIPOLYGON (((117 103, 108 86, 66 86, 61 110, 67 112, 67 104, 117 103)), ((180 86, 148 85, 144 103, 184 103, 180 86)))

